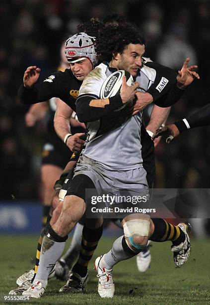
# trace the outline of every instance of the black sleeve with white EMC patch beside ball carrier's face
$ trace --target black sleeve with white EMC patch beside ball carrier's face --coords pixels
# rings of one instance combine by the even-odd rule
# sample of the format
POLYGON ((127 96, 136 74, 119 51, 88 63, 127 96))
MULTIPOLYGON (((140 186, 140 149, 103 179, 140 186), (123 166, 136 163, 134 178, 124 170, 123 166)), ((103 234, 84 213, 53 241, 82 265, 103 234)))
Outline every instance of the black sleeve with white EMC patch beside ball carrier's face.
POLYGON ((146 65, 156 70, 154 83, 147 90, 153 97, 153 103, 159 107, 169 107, 179 101, 184 90, 177 87, 176 72, 155 62, 146 65))

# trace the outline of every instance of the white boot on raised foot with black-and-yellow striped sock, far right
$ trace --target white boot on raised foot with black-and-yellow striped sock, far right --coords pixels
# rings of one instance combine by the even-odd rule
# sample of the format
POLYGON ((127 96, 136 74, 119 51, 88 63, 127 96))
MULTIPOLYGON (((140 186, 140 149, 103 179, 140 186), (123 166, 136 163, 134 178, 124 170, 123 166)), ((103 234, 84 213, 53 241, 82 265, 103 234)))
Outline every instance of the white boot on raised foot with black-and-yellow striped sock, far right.
POLYGON ((176 266, 181 267, 184 265, 191 251, 190 238, 187 232, 190 233, 191 225, 188 223, 179 223, 178 227, 185 233, 185 241, 179 244, 178 246, 171 246, 171 251, 174 253, 174 263, 176 266))

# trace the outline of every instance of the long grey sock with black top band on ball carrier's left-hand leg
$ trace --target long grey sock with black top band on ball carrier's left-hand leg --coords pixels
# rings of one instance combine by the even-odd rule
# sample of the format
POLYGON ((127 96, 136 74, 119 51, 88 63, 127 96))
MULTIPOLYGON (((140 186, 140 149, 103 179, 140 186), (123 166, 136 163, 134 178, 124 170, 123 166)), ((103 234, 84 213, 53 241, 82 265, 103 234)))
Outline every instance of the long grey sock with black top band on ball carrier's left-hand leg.
POLYGON ((48 224, 48 234, 42 240, 40 251, 39 268, 33 283, 40 281, 44 287, 47 286, 48 276, 53 270, 55 263, 61 257, 68 236, 59 236, 48 224))

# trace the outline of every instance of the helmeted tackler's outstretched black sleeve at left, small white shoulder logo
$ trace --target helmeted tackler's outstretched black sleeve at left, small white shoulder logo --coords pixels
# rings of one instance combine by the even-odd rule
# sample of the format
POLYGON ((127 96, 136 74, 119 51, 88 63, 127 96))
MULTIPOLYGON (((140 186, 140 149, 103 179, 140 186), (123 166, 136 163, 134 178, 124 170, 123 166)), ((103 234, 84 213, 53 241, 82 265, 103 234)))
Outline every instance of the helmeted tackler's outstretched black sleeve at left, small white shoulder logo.
POLYGON ((53 76, 55 78, 50 79, 52 75, 44 82, 36 83, 32 88, 25 88, 23 84, 18 90, 18 98, 20 103, 25 105, 36 104, 47 101, 52 97, 61 98, 62 90, 62 72, 55 72, 53 76))

